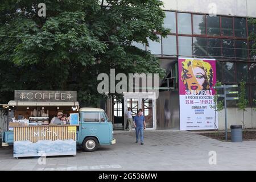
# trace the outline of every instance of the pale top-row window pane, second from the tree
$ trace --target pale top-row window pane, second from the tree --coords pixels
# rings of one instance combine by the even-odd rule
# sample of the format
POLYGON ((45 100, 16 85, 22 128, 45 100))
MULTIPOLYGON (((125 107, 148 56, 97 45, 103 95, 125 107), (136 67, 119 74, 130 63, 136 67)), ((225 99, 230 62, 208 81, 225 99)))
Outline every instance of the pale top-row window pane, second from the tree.
POLYGON ((192 34, 191 14, 190 13, 178 13, 177 14, 177 26, 179 34, 192 34))

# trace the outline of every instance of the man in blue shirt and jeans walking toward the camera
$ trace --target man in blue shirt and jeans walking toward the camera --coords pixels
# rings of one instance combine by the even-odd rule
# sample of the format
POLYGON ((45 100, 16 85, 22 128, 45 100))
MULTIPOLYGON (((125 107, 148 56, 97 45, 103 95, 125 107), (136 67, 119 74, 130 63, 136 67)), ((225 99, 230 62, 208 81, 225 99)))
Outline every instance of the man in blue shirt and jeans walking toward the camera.
POLYGON ((144 144, 143 130, 146 129, 146 121, 141 111, 134 117, 133 123, 136 130, 136 143, 138 143, 139 134, 141 134, 141 144, 144 144))

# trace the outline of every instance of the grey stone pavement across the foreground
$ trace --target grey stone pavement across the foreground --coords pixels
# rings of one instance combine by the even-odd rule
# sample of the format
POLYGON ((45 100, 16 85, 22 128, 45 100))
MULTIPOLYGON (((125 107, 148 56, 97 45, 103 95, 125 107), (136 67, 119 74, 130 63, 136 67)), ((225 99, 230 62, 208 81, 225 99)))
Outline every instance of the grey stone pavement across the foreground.
POLYGON ((144 134, 142 146, 135 143, 134 131, 115 131, 117 144, 47 157, 45 164, 38 158, 14 159, 12 147, 0 147, 0 170, 256 170, 256 141, 221 142, 175 130, 144 134), (216 164, 209 164, 210 151, 216 152, 216 164))

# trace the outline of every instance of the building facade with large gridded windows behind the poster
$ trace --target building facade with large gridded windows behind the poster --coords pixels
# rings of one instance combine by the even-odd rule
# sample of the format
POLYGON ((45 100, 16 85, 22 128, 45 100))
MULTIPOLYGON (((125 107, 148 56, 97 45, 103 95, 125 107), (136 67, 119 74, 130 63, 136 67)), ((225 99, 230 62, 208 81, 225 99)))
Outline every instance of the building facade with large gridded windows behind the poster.
MULTIPOLYGON (((160 98, 145 100, 146 96, 127 94, 122 102, 113 100, 113 120, 121 129, 126 125, 126 107, 147 110, 151 129, 179 130, 179 94, 177 81, 178 57, 216 59, 217 80, 222 84, 240 84, 246 81, 246 98, 249 104, 245 111, 245 126, 256 127, 256 56, 251 55, 254 41, 250 34, 256 27, 250 18, 256 18, 254 0, 163 0, 166 13, 164 27, 170 28, 167 38, 158 35, 160 42, 149 40, 148 46, 134 46, 151 51, 160 60, 167 75, 160 80, 160 98), (143 96, 143 97, 142 97, 143 96), (168 103, 164 103, 168 100, 168 103), (164 121, 164 108, 171 112, 170 121, 164 121)), ((156 33, 157 34, 157 33, 156 33)), ((238 90, 239 91, 239 90, 238 90)), ((242 124, 242 111, 236 101, 228 101, 228 128, 242 124)), ((135 114, 136 111, 134 111, 135 114)), ((218 129, 225 129, 224 111, 218 113, 218 129)))

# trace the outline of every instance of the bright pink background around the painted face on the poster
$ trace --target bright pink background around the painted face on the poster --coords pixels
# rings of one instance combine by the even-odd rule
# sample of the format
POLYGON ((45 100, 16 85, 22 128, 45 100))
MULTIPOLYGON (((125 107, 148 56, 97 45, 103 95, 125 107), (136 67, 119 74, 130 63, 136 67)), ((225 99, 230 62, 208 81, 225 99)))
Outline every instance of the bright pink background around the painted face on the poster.
MULTIPOLYGON (((213 59, 193 59, 193 58, 179 58, 178 60, 178 68, 179 68, 179 94, 180 95, 185 95, 185 90, 186 90, 186 87, 185 85, 183 84, 183 81, 181 80, 181 72, 182 72, 182 62, 185 61, 185 60, 203 60, 207 63, 209 63, 211 66, 212 66, 212 69, 213 69, 213 85, 214 86, 216 84, 216 60, 213 60, 213 59)), ((212 88, 212 86, 210 87, 210 89, 212 90, 212 93, 215 94, 215 90, 212 88)))

